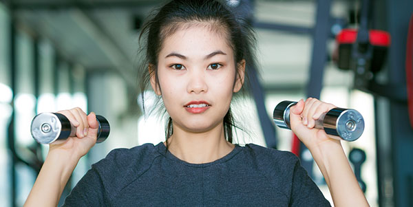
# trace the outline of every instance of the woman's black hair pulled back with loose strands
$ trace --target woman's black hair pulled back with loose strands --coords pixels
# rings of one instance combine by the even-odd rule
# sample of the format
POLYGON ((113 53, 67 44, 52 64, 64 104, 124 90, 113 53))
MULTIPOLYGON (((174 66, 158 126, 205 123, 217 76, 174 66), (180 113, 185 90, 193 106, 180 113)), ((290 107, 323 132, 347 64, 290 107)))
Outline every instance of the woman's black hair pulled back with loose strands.
MULTIPOLYGON (((214 0, 175 0, 169 1, 164 6, 155 10, 149 20, 142 27, 139 39, 145 41, 142 52, 145 52, 145 60, 142 61, 142 78, 140 90, 142 96, 143 112, 145 113, 144 93, 149 85, 151 76, 155 76, 158 83, 158 55, 165 38, 177 30, 182 29, 185 23, 211 23, 211 29, 226 35, 229 46, 233 49, 235 60, 235 80, 240 76, 238 63, 246 62, 246 70, 253 69, 255 65, 255 35, 250 23, 242 17, 237 17, 235 12, 226 6, 224 2, 214 0), (149 65, 151 67, 149 67, 149 65)), ((245 85, 248 85, 248 73, 244 72, 244 85, 242 93, 245 93, 245 85)), ((235 84, 234 80, 234 84, 235 84)), ((224 135, 226 140, 233 142, 234 124, 231 107, 224 116, 224 135)), ((172 119, 167 119, 166 139, 173 134, 172 119)), ((168 142, 167 142, 168 144, 168 142)))

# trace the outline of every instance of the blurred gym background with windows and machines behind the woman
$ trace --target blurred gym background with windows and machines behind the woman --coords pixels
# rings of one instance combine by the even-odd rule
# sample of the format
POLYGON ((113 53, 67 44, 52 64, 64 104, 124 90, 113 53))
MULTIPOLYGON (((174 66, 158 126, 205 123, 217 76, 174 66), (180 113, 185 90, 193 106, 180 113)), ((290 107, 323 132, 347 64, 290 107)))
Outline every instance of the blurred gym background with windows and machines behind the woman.
MULTIPOLYGON (((109 138, 76 166, 61 201, 90 165, 112 149, 165 140, 165 120, 142 114, 136 70, 140 28, 162 2, 0 1, 1 206, 23 205, 47 155, 48 146, 30 134, 30 122, 38 113, 81 107, 111 124, 109 138)), ((412 57, 406 60, 413 1, 226 3, 251 21, 258 42, 255 67, 260 74, 250 74, 253 93, 233 104, 244 129, 238 131, 238 142, 293 151, 331 201, 309 151, 294 141, 291 131, 275 127, 273 109, 282 100, 307 97, 357 109, 365 131, 343 146, 354 155, 350 161, 370 205, 413 206, 413 131, 406 84, 413 78, 407 68, 412 57), (381 41, 373 41, 372 33, 361 35, 372 29, 383 33, 381 41), (351 31, 360 31, 357 38, 337 38, 351 31)), ((147 93, 146 107, 153 107, 153 97, 147 93)))

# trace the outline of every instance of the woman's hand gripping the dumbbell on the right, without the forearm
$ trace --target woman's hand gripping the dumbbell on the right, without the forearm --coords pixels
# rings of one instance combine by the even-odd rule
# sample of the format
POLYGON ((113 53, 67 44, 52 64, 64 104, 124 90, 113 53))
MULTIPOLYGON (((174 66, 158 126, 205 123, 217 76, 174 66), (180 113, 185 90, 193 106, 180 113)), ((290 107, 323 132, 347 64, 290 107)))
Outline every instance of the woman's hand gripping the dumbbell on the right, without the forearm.
POLYGON ((317 98, 308 98, 305 102, 299 100, 297 105, 290 109, 291 130, 303 142, 308 149, 313 149, 326 142, 339 142, 330 138, 322 129, 315 129, 315 120, 322 113, 335 108, 335 105, 321 102, 317 98))

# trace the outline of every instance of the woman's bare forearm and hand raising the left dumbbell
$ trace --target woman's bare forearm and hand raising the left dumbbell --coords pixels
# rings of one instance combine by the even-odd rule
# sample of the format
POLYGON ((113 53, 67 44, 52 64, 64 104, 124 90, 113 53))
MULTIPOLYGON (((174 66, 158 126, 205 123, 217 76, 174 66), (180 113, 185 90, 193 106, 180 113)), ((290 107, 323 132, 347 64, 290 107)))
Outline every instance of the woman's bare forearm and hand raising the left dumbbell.
POLYGON ((76 137, 50 144, 49 153, 24 206, 57 206, 78 160, 96 143, 98 122, 81 109, 59 111, 77 128, 76 137))

